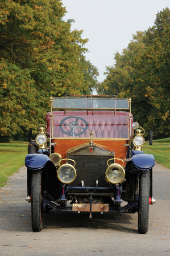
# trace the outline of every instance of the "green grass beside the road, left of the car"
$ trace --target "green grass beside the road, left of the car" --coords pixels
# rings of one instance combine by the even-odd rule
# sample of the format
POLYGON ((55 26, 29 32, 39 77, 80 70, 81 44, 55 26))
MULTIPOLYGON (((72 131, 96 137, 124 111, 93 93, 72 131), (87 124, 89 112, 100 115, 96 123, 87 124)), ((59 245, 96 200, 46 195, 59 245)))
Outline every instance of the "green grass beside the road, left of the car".
POLYGON ((0 188, 5 185, 8 176, 24 165, 27 147, 27 142, 0 143, 0 188))

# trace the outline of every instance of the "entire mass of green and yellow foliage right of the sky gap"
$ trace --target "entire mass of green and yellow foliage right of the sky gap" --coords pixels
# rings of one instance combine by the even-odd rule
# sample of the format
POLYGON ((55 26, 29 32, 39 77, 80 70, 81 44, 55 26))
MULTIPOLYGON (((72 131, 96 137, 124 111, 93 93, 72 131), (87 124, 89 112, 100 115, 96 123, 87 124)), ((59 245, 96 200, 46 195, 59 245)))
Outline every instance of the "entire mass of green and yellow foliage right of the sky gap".
POLYGON ((115 65, 107 67, 100 94, 131 97, 134 120, 155 138, 170 135, 170 10, 156 15, 155 26, 136 32, 115 65))

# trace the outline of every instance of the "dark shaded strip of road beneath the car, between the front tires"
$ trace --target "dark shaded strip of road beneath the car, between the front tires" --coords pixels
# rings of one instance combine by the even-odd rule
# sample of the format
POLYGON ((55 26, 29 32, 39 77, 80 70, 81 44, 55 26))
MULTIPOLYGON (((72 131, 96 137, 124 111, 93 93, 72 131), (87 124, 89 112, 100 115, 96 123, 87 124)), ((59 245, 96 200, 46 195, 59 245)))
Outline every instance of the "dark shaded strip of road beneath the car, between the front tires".
MULTIPOLYGON (((133 216, 137 214, 132 214, 133 216)), ((136 220, 137 221, 137 220, 136 220)), ((43 215, 43 229, 85 228, 85 229, 114 229, 123 232, 138 233, 132 226, 133 219, 130 214, 120 213, 60 213, 49 212, 43 215)), ((137 225, 137 223, 136 223, 137 225)))

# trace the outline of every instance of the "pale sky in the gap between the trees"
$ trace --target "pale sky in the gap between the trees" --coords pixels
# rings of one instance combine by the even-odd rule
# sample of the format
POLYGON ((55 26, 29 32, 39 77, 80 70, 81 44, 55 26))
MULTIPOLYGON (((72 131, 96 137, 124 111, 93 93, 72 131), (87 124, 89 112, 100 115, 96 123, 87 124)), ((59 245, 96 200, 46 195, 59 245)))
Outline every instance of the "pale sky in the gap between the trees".
POLYGON ((74 19, 71 30, 83 30, 82 38, 89 52, 85 54, 99 71, 98 81, 106 78, 106 66, 113 66, 115 52, 122 53, 136 31, 154 26, 156 14, 169 7, 170 0, 62 0, 68 13, 63 18, 74 19))

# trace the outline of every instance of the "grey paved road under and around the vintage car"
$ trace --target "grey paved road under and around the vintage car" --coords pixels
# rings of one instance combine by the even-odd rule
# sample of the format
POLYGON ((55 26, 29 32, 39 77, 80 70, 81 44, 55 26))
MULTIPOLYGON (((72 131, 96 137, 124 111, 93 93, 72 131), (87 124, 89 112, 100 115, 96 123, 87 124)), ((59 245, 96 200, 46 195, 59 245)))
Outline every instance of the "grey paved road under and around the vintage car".
POLYGON ((147 234, 138 234, 138 214, 60 213, 43 216, 31 230, 26 168, 0 189, 0 255, 170 255, 170 170, 154 168, 154 198, 147 234))

